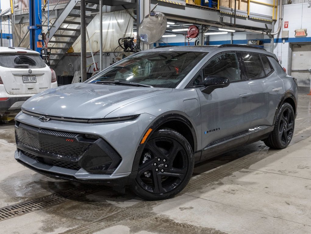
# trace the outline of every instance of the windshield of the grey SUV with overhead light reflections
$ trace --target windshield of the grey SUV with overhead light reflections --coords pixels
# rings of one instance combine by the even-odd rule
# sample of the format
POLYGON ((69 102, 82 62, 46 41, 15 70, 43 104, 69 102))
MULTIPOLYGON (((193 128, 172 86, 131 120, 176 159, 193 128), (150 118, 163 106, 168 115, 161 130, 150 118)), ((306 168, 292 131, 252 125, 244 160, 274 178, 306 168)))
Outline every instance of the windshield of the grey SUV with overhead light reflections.
POLYGON ((195 65, 207 55, 198 51, 149 51, 122 59, 86 83, 132 82, 160 88, 176 88, 195 65), (103 82, 105 81, 105 82, 103 82))

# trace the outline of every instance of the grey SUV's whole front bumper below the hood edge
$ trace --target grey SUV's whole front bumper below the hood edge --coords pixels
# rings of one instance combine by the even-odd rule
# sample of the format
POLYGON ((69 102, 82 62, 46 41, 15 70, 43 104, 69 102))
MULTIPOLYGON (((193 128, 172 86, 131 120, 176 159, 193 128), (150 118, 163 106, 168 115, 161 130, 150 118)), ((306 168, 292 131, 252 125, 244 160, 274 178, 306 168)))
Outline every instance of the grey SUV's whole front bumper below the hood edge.
MULTIPOLYGON (((63 178, 66 180, 85 181, 85 182, 86 181, 104 182, 104 183, 113 182, 114 184, 117 185, 119 183, 124 185, 128 183, 130 177, 135 176, 136 172, 132 172, 132 166, 137 151, 137 147, 143 137, 143 134, 146 131, 148 124, 153 119, 154 116, 144 113, 141 114, 135 120, 123 122, 77 123, 77 122, 62 122, 56 120, 50 120, 48 122, 40 122, 38 117, 31 116, 21 112, 15 118, 17 125, 18 126, 22 126, 21 124, 28 125, 30 126, 30 129, 34 130, 30 132, 31 134, 25 135, 24 138, 41 139, 41 140, 39 141, 37 140, 31 143, 31 145, 35 147, 28 147, 27 144, 26 145, 19 144, 19 141, 17 139, 16 145, 17 150, 15 153, 15 159, 34 171, 52 177, 63 178), (59 135, 59 133, 57 132, 65 132, 72 135, 66 136, 59 135), (44 138, 41 138, 41 134, 45 133, 49 133, 52 135, 56 134, 57 136, 53 139, 49 138, 49 136, 44 136, 44 138), (91 147, 89 145, 86 145, 83 147, 86 147, 87 150, 85 150, 85 148, 83 147, 81 150, 83 152, 86 151, 88 153, 91 153, 90 150, 92 149, 92 147, 93 149, 95 149, 94 146, 96 145, 97 148, 93 150, 92 154, 86 153, 78 154, 77 152, 70 153, 76 150, 77 147, 80 147, 79 145, 76 145, 77 147, 74 145, 71 147, 70 144, 75 144, 76 140, 77 143, 82 142, 84 144, 86 142, 86 139, 83 137, 84 134, 98 135, 100 136, 99 139, 100 141, 93 140, 91 142, 91 147), (74 142, 71 141, 67 142, 66 139, 69 140, 73 139, 74 142), (45 144, 46 142, 49 142, 50 144, 46 145, 45 144), (104 144, 104 142, 106 144, 104 144), (58 151, 57 147, 53 148, 53 144, 59 146, 59 149, 62 150, 58 151), (52 149, 50 147, 52 147, 52 149), (38 151, 37 148, 40 148, 42 150, 38 151), (102 172, 96 171, 99 168, 95 168, 95 171, 91 170, 92 168, 90 162, 93 162, 92 166, 94 169, 95 166, 104 165, 110 160, 109 158, 105 159, 105 157, 101 157, 100 159, 101 163, 95 163, 96 157, 92 157, 92 155, 94 156, 96 152, 99 152, 98 148, 101 148, 103 149, 104 152, 107 152, 105 155, 109 156, 109 158, 111 158, 112 151, 114 151, 114 154, 118 155, 119 159, 121 158, 120 162, 115 164, 114 167, 116 168, 114 167, 108 168, 111 169, 110 171, 106 168, 107 171, 102 172), (62 154, 62 152, 64 152, 64 149, 66 149, 65 155, 62 154), (75 155, 78 156, 75 157, 75 155), (62 164, 59 164, 59 162, 51 163, 49 160, 55 159, 53 157, 56 157, 57 160, 59 161, 62 162, 65 161, 66 163, 69 164, 66 164, 66 168, 64 168, 64 166, 62 164), (45 160, 45 158, 47 160, 45 160), (72 161, 75 165, 70 164, 72 163, 72 161), (77 165, 79 166, 78 168, 76 167, 77 165)), ((102 153, 98 156, 102 155, 104 154, 102 153)), ((97 157, 97 159, 99 158, 100 157, 97 157)))

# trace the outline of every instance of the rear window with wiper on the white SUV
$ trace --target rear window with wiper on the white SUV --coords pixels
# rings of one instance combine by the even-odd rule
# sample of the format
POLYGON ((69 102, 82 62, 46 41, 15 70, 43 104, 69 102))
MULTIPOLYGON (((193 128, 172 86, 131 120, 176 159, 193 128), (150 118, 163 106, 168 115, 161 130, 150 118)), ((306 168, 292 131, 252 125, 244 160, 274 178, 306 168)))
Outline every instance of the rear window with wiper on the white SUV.
POLYGON ((1 53, 0 66, 9 68, 43 68, 46 65, 39 54, 1 53))

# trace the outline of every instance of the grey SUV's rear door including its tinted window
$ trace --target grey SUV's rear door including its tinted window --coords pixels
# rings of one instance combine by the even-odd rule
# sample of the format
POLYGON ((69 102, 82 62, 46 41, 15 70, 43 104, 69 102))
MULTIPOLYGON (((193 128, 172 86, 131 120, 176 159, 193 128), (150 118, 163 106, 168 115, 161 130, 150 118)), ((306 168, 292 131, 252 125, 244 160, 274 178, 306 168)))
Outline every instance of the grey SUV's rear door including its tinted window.
POLYGON ((283 81, 268 58, 259 53, 239 53, 252 94, 251 128, 271 126, 276 108, 284 94, 283 81))

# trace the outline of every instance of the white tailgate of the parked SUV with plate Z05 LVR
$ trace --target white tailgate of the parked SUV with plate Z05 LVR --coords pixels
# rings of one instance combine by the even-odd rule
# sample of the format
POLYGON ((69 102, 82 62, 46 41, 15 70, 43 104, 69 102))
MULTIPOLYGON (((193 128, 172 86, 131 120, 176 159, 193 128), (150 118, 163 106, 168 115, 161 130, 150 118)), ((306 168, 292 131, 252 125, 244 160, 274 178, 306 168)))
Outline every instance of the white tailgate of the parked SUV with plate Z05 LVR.
POLYGON ((0 76, 8 94, 36 94, 51 86, 51 70, 39 53, 0 53, 0 76))

